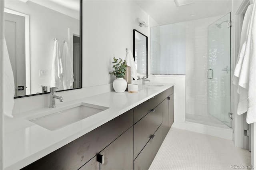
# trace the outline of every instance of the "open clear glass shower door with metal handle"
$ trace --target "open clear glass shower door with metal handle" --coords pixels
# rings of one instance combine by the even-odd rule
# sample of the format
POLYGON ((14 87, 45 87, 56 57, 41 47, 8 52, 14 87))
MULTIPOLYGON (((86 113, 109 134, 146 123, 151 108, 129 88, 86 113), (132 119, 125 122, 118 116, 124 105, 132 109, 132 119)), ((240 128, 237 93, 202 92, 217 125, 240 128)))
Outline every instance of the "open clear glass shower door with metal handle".
POLYGON ((231 127, 230 13, 208 26, 208 113, 231 127))

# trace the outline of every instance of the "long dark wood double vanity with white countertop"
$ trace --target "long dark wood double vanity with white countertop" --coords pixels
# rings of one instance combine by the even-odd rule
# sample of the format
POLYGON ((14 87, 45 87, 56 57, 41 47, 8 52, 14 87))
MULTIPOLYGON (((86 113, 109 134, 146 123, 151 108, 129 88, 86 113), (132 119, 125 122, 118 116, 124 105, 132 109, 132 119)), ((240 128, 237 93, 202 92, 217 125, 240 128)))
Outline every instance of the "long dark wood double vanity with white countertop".
MULTIPOLYGON (((95 118, 94 121, 99 122, 95 125, 98 127, 88 130, 93 127, 90 127, 90 124, 88 127, 84 125, 81 128, 87 129, 88 132, 84 132, 78 138, 73 140, 73 137, 68 138, 70 142, 62 146, 58 144, 60 146, 58 149, 53 152, 48 151, 49 153, 41 158, 29 164, 26 163, 26 166, 19 165, 19 162, 15 166, 20 166, 22 170, 148 169, 174 120, 173 90, 174 87, 170 84, 148 85, 148 87, 143 86, 138 93, 108 92, 81 99, 85 102, 94 102, 98 99, 98 103, 102 105, 101 99, 105 97, 105 106, 109 109, 97 113, 95 117, 91 116, 95 118), (112 101, 106 97, 111 97, 112 101), (116 103, 114 109, 111 103, 116 103), (112 119, 110 115, 114 118, 112 119), (110 117, 109 121, 106 117, 110 117), (104 122, 102 120, 107 121, 102 123, 104 122)), ((79 124, 81 121, 74 124, 79 124)), ((39 131, 42 129, 38 125, 31 124, 31 126, 39 131)), ((58 135, 65 132, 62 130, 67 130, 68 127, 74 128, 71 125, 48 133, 58 135)), ((52 145, 55 145, 54 141, 52 142, 52 145)), ((37 156, 37 154, 34 155, 37 156)), ((25 160, 28 159, 24 158, 25 160)), ((14 165, 6 169, 13 167, 14 165)))

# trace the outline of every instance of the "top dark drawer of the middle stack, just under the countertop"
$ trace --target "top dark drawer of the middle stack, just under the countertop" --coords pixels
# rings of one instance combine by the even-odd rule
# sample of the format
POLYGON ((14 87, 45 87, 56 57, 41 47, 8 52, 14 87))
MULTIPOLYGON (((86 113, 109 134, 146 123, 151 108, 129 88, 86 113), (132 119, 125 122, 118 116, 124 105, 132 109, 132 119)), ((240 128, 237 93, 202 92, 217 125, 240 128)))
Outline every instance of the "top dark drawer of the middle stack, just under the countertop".
POLYGON ((134 107, 134 124, 162 102, 162 93, 134 107))

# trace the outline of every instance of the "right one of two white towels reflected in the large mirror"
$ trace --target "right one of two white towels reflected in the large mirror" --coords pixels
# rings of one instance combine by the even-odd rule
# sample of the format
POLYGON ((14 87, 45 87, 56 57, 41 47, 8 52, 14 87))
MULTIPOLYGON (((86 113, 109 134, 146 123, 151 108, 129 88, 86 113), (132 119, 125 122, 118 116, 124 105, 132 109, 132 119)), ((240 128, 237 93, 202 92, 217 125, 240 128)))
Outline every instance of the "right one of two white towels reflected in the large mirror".
POLYGON ((68 49, 68 43, 64 43, 62 53, 62 65, 63 65, 63 87, 64 90, 70 89, 74 82, 73 66, 71 61, 70 52, 68 49))

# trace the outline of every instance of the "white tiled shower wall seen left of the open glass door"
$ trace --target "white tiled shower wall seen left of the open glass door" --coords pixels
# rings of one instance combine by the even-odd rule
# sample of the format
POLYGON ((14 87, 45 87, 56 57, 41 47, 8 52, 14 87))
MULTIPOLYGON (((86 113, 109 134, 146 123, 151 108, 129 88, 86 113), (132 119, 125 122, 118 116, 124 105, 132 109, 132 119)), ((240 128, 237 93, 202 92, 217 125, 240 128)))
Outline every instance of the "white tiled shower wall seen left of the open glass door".
POLYGON ((208 26, 220 16, 186 22, 186 113, 209 116, 207 105, 208 26))

